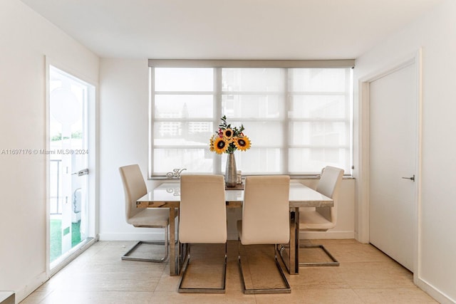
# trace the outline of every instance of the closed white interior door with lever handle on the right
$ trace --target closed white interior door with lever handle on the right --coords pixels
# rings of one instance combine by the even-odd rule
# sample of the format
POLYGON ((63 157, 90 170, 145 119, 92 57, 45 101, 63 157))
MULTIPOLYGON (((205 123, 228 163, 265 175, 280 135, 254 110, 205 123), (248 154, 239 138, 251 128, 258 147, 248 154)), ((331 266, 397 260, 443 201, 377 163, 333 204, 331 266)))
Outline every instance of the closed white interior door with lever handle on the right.
POLYGON ((417 172, 416 63, 370 83, 371 243, 413 271, 417 172))

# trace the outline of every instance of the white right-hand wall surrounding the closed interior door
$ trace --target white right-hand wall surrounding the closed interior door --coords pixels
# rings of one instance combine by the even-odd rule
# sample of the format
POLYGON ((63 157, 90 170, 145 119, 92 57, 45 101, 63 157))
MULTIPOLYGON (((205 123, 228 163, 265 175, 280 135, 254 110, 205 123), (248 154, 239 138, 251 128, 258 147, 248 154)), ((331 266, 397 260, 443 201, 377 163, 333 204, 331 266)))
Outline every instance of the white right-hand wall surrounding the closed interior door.
MULTIPOLYGON (((358 85, 360 78, 410 58, 423 48, 423 155, 415 283, 442 303, 456 302, 455 20, 456 1, 447 0, 357 58, 355 69, 358 85)), ((362 162, 356 168, 360 165, 362 162)), ((363 204, 366 201, 361 199, 358 207, 363 209, 363 204)), ((361 222, 362 216, 361 211, 361 222)))

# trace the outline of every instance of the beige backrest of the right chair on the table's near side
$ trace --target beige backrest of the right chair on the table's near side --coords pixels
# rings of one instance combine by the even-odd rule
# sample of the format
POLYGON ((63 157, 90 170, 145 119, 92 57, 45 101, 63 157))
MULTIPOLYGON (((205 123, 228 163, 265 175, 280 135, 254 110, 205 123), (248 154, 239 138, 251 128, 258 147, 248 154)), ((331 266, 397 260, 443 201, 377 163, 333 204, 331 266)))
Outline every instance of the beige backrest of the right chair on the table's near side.
POLYGON ((290 177, 246 177, 242 204, 241 243, 288 243, 290 177))

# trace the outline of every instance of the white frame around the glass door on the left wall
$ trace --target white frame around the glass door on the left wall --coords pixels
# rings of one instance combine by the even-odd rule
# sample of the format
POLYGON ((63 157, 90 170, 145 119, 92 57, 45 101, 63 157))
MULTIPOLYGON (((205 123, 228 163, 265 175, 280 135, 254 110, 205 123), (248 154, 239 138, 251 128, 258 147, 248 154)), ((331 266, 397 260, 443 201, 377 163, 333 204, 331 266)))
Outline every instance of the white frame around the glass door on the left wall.
POLYGON ((50 150, 49 142, 49 110, 50 110, 50 88, 49 88, 49 75, 50 75, 50 66, 62 70, 64 73, 68 73, 73 77, 78 78, 79 80, 91 85, 93 90, 90 90, 88 94, 90 99, 93 100, 93 103, 88 103, 88 169, 90 174, 88 175, 88 237, 89 241, 83 243, 81 247, 78 247, 76 250, 71 250, 68 258, 62 263, 59 263, 58 266, 51 269, 50 263, 50 172, 49 172, 49 155, 46 155, 46 278, 51 278, 55 273, 61 270, 73 261, 79 254, 85 251, 88 247, 93 245, 95 241, 98 241, 99 235, 99 224, 98 224, 98 83, 88 80, 86 77, 80 73, 72 70, 71 68, 66 67, 54 61, 48 56, 45 57, 46 64, 46 150, 50 150))

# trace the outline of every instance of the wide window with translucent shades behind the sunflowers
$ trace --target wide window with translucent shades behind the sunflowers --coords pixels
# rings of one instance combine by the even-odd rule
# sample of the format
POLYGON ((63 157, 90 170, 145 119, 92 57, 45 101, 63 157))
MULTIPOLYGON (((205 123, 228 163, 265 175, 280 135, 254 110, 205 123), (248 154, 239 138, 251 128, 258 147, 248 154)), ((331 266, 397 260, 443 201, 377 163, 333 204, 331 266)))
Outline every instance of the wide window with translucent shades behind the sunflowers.
POLYGON ((244 175, 351 172, 352 65, 150 60, 150 177, 224 173, 227 155, 209 152, 223 115, 252 141, 235 152, 244 175))

